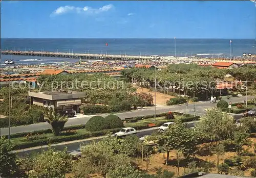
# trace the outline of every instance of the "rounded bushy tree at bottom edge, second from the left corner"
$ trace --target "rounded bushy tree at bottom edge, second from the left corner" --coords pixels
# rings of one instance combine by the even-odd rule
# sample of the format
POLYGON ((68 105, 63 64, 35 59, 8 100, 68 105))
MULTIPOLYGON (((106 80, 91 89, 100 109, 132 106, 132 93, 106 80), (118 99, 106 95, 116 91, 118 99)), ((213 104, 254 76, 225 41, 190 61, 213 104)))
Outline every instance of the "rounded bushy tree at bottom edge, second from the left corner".
POLYGON ((64 150, 54 150, 49 148, 42 150, 32 161, 33 169, 29 171, 29 177, 65 177, 71 170, 71 159, 64 150))

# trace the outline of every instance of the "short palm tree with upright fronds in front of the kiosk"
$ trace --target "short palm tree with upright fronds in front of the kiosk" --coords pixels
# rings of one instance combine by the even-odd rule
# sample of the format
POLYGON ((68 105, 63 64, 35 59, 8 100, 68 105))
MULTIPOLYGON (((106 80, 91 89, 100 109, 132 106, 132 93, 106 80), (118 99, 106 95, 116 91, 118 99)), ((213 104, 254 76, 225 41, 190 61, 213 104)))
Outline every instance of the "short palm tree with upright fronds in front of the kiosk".
POLYGON ((58 136, 60 131, 63 130, 65 123, 68 121, 68 116, 60 115, 54 110, 50 110, 47 113, 45 120, 51 124, 52 132, 55 136, 58 136))

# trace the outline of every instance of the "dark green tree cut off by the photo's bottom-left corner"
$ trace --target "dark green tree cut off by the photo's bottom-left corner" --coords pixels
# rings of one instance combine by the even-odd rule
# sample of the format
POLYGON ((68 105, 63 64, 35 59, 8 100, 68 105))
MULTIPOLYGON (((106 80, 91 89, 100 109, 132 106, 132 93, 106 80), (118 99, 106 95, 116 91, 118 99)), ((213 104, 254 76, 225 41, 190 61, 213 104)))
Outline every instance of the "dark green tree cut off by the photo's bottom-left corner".
POLYGON ((1 137, 0 144, 0 176, 13 177, 18 172, 17 155, 10 152, 13 150, 14 145, 4 137, 1 137))

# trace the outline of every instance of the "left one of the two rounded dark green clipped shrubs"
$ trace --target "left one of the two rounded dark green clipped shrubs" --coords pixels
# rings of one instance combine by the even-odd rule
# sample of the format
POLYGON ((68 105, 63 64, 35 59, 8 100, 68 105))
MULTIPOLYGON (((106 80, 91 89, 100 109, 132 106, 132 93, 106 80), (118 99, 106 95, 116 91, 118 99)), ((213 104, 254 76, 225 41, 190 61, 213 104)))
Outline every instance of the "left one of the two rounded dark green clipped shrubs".
POLYGON ((108 123, 102 116, 93 116, 86 123, 85 129, 91 132, 105 130, 108 129, 108 123))

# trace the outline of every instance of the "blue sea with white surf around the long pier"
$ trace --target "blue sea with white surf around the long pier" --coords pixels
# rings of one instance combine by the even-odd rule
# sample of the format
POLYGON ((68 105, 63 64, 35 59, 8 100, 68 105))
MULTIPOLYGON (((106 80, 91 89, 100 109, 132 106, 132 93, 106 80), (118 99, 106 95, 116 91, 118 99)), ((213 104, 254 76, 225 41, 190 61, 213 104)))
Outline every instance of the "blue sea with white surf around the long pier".
MULTIPOLYGON (((255 39, 29 39, 1 38, 1 50, 115 54, 135 56, 239 57, 256 54, 255 39), (175 47, 176 46, 176 47, 175 47)), ((16 64, 62 64, 78 62, 72 58, 1 55, 1 64, 12 59, 16 64)))

